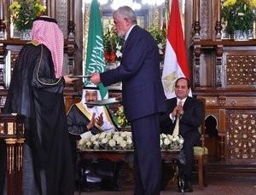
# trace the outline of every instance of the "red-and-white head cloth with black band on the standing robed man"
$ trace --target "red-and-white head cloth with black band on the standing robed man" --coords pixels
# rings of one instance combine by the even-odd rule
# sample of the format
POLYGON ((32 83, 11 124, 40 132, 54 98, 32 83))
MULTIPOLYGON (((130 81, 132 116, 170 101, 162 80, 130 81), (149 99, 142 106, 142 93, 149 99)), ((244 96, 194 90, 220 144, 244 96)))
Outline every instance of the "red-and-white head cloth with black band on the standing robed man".
MULTIPOLYGON (((41 16, 40 19, 51 19, 41 16)), ((52 55, 55 66, 55 77, 61 77, 64 53, 64 36, 59 26, 49 20, 35 20, 32 26, 32 40, 43 43, 52 55)))

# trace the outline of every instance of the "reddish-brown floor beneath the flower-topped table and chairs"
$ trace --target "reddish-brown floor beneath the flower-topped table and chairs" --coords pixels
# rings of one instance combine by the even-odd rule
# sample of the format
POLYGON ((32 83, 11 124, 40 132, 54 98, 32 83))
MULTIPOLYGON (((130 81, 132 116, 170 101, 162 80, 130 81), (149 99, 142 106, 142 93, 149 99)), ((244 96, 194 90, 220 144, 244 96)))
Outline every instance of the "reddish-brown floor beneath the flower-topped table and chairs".
MULTIPOLYGON (((216 175, 207 175, 208 186, 203 190, 200 190, 197 183, 197 178, 193 178, 193 193, 199 195, 255 195, 256 194, 256 175, 255 177, 224 177, 216 175)), ((93 192, 75 192, 75 195, 132 195, 133 184, 132 182, 121 181, 120 192, 106 192, 101 190, 95 190, 93 192)), ((167 186, 165 191, 161 191, 160 195, 167 194, 181 194, 177 192, 177 186, 171 182, 167 186)), ((186 193, 187 194, 187 193, 186 193)))

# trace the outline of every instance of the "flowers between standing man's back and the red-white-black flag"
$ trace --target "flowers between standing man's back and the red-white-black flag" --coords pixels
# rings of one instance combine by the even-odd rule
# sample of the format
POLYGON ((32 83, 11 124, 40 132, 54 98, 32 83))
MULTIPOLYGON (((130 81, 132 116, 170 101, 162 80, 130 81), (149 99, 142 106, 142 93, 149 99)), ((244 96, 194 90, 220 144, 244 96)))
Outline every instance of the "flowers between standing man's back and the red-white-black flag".
POLYGON ((166 29, 160 29, 154 25, 150 26, 148 32, 154 37, 157 42, 160 54, 160 61, 163 61, 165 58, 166 51, 166 29))

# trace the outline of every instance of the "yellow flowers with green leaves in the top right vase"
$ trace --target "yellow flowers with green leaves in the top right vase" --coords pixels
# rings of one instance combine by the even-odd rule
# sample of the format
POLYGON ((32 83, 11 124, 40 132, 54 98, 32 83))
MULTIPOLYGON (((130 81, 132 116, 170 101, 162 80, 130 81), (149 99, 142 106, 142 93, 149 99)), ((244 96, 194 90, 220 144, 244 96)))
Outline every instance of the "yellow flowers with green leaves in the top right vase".
POLYGON ((222 17, 226 31, 233 34, 235 31, 248 32, 253 29, 256 0, 223 0, 222 17))

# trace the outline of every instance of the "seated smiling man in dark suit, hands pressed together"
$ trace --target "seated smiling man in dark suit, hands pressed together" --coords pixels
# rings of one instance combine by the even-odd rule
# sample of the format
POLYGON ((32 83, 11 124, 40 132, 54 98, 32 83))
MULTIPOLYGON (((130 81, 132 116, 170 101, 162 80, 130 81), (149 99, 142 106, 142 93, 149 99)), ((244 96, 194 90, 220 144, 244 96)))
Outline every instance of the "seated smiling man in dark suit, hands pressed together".
POLYGON ((200 144, 200 133, 204 108, 200 100, 189 97, 190 83, 185 77, 180 77, 175 83, 175 94, 177 97, 166 100, 167 112, 160 118, 160 129, 162 133, 172 134, 176 124, 176 118, 180 116, 179 135, 183 136, 183 149, 186 157, 185 168, 185 192, 193 192, 191 177, 194 164, 193 146, 200 144))

